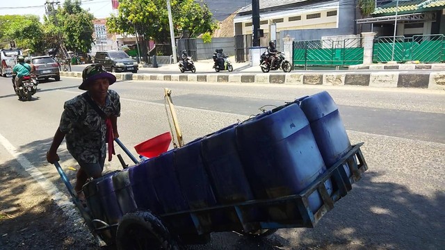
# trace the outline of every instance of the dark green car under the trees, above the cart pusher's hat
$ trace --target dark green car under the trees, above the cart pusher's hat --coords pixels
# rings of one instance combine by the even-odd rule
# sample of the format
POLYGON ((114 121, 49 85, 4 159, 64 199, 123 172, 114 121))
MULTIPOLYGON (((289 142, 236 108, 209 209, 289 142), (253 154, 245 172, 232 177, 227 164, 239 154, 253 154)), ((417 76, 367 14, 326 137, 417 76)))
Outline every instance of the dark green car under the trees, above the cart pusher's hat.
POLYGON ((95 63, 101 63, 105 69, 111 72, 138 73, 138 62, 131 59, 124 51, 99 51, 96 52, 95 63))

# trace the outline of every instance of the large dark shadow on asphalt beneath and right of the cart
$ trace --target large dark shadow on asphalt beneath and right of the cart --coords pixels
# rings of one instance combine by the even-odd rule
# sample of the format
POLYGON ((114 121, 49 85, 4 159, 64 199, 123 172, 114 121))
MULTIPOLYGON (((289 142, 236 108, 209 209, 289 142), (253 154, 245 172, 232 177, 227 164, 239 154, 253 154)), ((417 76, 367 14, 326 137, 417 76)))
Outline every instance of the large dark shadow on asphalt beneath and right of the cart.
POLYGON ((315 228, 280 229, 259 240, 213 233, 209 244, 186 249, 443 249, 444 192, 426 197, 404 185, 375 181, 381 176, 366 172, 315 228))

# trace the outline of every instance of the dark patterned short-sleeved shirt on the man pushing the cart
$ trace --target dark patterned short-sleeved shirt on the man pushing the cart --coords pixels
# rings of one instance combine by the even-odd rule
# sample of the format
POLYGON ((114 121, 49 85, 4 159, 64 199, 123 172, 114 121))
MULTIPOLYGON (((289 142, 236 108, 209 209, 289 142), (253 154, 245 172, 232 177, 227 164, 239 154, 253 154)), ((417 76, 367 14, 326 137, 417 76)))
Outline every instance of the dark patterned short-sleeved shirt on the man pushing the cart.
MULTIPOLYGON (((77 161, 99 163, 99 159, 106 157, 105 119, 81 95, 65 101, 63 108, 59 129, 66 133, 68 151, 77 161)), ((108 90, 105 106, 99 108, 108 117, 119 117, 119 94, 108 90)))

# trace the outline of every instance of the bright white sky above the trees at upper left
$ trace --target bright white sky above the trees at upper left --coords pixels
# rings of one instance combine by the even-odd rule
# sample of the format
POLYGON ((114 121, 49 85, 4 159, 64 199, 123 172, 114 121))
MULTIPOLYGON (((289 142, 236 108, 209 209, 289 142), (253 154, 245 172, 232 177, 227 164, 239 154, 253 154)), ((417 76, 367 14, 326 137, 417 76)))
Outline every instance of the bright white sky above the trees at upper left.
MULTIPOLYGON (((61 5, 65 0, 58 1, 61 5)), ((0 15, 33 14, 39 15, 40 22, 43 22, 45 2, 46 0, 0 0, 0 15)), ((82 8, 89 9, 96 18, 108 17, 113 12, 111 0, 83 0, 82 8)))

